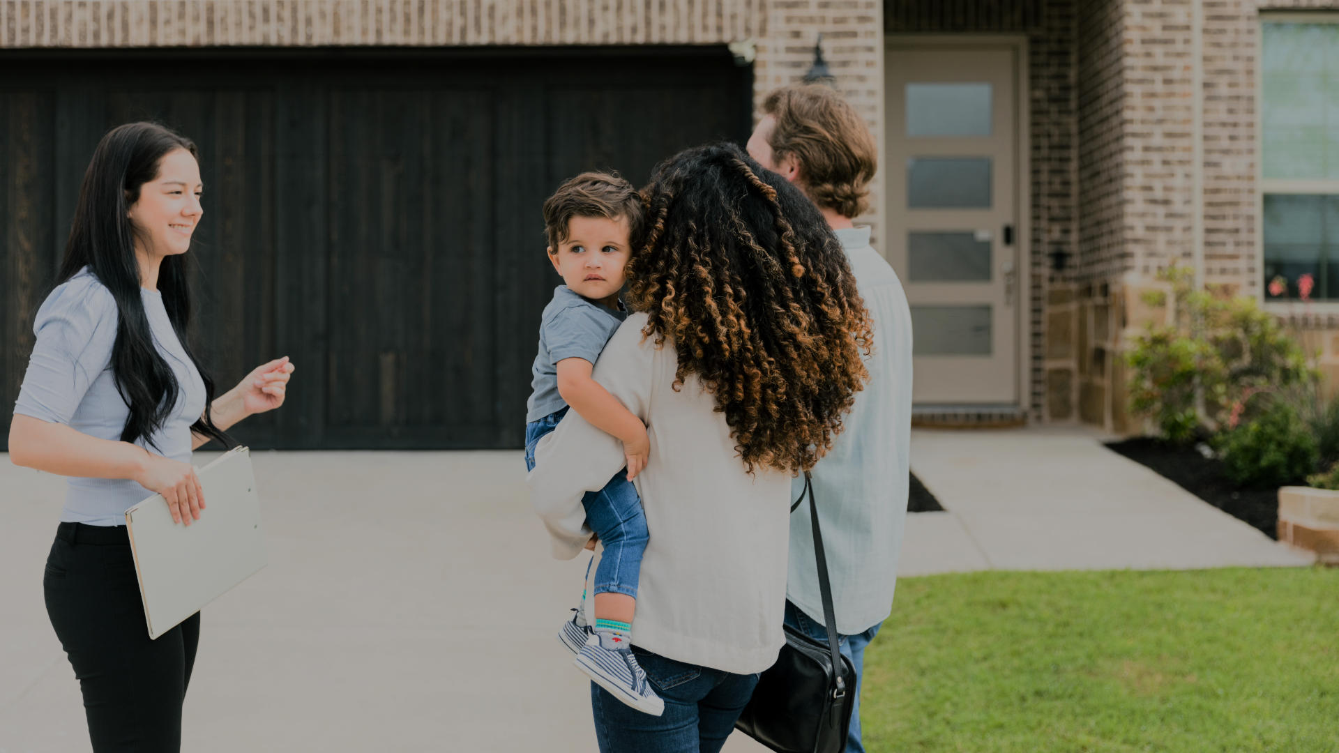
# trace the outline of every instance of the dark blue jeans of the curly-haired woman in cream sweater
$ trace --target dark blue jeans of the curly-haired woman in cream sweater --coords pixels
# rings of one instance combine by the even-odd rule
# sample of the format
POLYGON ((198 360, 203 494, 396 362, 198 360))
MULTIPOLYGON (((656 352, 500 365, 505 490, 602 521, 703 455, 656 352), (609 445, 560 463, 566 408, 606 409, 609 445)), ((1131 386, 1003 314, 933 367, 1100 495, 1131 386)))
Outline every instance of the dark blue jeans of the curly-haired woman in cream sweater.
POLYGON ((716 753, 735 729, 758 685, 757 674, 687 665, 632 647, 647 679, 665 702, 660 717, 643 714, 590 683, 600 753, 716 753))

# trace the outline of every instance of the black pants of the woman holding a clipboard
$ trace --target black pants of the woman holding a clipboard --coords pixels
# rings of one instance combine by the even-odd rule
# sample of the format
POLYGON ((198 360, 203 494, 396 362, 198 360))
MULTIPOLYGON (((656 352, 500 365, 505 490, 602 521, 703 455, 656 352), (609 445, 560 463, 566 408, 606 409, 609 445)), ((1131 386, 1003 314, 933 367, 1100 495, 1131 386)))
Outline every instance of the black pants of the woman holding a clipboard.
POLYGON ((200 614, 149 639, 125 527, 62 523, 43 591, 79 678, 94 752, 179 752, 200 614))

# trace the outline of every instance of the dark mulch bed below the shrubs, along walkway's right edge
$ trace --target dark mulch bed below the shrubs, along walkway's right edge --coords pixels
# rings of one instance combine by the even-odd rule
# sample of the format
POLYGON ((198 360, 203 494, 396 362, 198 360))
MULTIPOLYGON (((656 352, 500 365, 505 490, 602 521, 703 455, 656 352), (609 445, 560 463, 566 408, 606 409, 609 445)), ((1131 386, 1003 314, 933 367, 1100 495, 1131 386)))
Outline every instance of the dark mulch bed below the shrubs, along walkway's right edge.
POLYGON ((1141 437, 1107 445, 1115 453, 1153 469, 1220 510, 1277 539, 1279 489, 1243 489, 1223 474, 1223 461, 1194 448, 1141 437))

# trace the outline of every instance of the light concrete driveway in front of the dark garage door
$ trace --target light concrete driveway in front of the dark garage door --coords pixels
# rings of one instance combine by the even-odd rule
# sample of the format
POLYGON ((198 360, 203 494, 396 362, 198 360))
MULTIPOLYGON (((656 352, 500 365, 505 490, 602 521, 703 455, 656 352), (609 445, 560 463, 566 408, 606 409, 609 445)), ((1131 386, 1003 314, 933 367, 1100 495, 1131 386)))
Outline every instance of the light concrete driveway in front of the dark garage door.
MULTIPOLYGON (((0 461, 0 753, 87 752, 42 599, 63 482, 0 461)), ((585 560, 549 556, 521 453, 254 465, 270 561, 204 611, 183 750, 595 749, 554 639, 585 560)))

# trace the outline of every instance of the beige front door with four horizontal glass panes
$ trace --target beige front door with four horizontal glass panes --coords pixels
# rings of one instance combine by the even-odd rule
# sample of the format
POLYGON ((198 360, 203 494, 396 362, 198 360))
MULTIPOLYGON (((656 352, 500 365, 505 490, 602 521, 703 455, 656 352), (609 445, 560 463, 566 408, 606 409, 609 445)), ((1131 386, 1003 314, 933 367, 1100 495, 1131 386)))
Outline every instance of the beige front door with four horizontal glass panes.
POLYGON ((890 44, 888 260, 917 405, 1016 405, 1020 260, 1012 47, 890 44))

